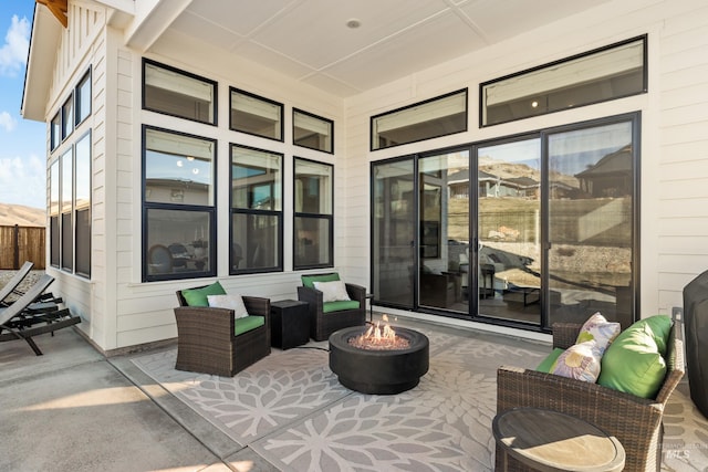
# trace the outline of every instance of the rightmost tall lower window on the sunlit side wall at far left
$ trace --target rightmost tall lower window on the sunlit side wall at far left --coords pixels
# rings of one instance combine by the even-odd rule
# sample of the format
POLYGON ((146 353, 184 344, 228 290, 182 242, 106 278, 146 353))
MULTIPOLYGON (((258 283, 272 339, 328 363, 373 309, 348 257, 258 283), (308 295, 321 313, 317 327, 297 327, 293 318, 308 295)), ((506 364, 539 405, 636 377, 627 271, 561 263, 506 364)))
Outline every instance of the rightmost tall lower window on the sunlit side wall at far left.
POLYGON ((91 133, 74 146, 74 216, 76 220, 75 272, 91 276, 91 133))

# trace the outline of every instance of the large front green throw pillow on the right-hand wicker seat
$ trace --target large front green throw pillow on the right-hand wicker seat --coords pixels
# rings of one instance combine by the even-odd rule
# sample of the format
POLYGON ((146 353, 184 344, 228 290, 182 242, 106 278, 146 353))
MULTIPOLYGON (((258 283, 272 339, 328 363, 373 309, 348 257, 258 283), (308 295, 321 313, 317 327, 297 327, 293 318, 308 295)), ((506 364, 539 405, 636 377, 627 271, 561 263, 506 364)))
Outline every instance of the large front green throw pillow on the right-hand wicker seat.
MULTIPOLYGON (((668 322, 670 328, 670 319, 668 322)), ((602 357, 597 384, 637 397, 655 398, 667 367, 652 328, 662 329, 664 324, 663 319, 646 318, 620 333, 602 357)), ((666 339, 663 345, 666 349, 666 339)))

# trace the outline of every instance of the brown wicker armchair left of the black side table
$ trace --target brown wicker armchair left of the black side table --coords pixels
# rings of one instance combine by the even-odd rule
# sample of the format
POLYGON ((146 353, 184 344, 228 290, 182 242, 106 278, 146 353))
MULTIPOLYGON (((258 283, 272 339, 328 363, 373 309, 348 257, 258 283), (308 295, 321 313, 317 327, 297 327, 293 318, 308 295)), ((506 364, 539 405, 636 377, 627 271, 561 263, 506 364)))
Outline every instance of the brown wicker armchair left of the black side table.
POLYGON ((188 306, 177 291, 176 369, 233 377, 270 354, 270 300, 242 298, 249 315, 262 316, 264 323, 237 336, 232 310, 188 306))

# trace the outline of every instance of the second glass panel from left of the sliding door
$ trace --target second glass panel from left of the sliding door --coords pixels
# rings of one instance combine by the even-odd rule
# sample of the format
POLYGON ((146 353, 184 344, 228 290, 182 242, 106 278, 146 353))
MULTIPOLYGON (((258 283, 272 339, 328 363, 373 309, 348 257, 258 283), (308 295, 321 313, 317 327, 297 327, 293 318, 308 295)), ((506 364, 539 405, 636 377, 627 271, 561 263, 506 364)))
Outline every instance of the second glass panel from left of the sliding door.
POLYGON ((469 150, 418 160, 418 304, 468 313, 469 150))

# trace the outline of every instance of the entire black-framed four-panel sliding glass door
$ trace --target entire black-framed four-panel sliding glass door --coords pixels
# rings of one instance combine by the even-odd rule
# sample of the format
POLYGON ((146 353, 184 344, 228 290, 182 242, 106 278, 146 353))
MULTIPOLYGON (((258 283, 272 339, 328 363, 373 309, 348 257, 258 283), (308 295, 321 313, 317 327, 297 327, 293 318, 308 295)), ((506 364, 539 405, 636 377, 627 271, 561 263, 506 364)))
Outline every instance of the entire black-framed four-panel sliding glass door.
POLYGON ((374 162, 376 302, 529 329, 597 311, 631 324, 638 118, 374 162))

